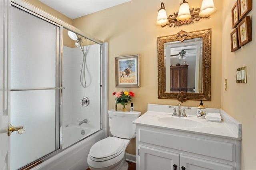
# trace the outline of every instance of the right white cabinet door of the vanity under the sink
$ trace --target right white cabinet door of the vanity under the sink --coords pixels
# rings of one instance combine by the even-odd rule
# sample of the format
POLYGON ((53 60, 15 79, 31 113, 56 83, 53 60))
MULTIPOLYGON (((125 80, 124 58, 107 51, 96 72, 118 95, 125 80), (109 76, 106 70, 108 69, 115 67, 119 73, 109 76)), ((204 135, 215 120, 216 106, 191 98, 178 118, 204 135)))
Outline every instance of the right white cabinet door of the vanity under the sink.
POLYGON ((231 165, 180 155, 180 170, 182 166, 186 170, 234 170, 231 165))

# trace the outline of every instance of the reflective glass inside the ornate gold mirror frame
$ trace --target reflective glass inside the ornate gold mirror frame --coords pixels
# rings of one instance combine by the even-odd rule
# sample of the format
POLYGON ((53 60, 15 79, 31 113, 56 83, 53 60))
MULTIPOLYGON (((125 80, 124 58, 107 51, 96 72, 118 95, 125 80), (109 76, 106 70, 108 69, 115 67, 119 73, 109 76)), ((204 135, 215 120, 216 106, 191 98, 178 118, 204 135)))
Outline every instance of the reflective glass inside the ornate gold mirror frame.
POLYGON ((164 52, 165 92, 202 93, 202 38, 166 42, 164 52))

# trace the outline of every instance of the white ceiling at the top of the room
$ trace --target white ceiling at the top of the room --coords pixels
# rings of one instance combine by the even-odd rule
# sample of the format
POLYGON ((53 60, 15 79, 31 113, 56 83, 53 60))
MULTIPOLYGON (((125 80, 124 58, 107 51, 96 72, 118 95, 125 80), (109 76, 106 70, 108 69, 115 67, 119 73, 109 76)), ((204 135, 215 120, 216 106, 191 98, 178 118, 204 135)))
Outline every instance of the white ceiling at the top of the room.
POLYGON ((131 0, 39 0, 68 18, 81 16, 110 8, 131 0))

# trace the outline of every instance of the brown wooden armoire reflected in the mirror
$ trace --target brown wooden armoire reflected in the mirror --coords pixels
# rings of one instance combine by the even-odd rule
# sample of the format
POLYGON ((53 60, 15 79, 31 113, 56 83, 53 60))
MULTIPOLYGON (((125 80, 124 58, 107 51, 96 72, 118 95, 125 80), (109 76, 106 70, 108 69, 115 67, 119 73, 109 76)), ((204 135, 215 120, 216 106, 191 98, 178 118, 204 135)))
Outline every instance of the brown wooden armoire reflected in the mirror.
POLYGON ((188 65, 170 67, 170 91, 188 91, 188 65))

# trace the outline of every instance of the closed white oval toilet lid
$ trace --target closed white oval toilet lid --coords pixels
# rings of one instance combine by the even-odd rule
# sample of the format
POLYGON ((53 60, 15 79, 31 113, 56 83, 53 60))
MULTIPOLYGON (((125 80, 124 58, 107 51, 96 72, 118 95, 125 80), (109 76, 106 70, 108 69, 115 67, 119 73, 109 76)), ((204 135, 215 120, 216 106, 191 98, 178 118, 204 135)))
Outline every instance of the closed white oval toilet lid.
POLYGON ((124 141, 120 138, 107 137, 96 142, 89 155, 94 158, 106 158, 124 149, 124 141))

